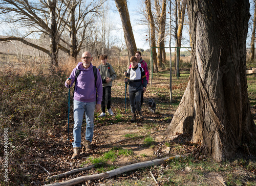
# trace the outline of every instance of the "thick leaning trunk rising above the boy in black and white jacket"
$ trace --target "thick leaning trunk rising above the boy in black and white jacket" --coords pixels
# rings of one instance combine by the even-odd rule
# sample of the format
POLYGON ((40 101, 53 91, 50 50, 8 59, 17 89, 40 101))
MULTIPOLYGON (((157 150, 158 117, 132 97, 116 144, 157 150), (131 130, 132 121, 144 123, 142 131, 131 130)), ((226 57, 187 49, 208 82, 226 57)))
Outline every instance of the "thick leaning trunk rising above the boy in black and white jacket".
POLYGON ((137 51, 132 24, 130 21, 130 15, 127 8, 126 0, 115 0, 117 10, 120 14, 123 32, 124 32, 124 39, 128 50, 129 59, 135 55, 137 51))

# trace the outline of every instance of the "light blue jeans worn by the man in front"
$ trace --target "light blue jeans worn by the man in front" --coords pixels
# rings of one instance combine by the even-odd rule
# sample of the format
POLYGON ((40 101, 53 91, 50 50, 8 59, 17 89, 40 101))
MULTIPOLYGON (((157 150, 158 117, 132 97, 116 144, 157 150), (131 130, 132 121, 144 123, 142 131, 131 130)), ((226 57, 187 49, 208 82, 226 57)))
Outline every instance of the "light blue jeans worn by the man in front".
POLYGON ((86 113, 86 140, 92 142, 93 139, 93 116, 95 110, 96 101, 94 102, 81 102, 74 100, 74 129, 73 147, 81 147, 81 128, 83 113, 86 113))

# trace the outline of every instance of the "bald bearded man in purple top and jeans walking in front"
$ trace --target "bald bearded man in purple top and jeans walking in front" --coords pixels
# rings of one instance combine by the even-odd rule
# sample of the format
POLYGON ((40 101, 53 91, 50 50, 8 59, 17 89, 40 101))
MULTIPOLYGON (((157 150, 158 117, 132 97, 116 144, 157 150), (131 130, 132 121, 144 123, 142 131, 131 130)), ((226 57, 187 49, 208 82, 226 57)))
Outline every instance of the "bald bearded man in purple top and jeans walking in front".
POLYGON ((99 70, 97 69, 97 81, 95 85, 95 77, 93 72, 92 60, 93 57, 89 51, 83 52, 82 62, 79 62, 76 68, 70 74, 71 80, 67 79, 65 86, 68 88, 72 86, 75 81, 76 69, 80 70, 77 76, 74 92, 74 129, 73 136, 73 156, 72 159, 78 158, 81 151, 81 126, 83 113, 86 114, 86 151, 92 150, 92 138, 93 138, 93 116, 94 110, 99 112, 102 101, 102 80, 100 78, 99 70), (96 86, 96 87, 95 87, 96 86), (97 92, 97 100, 96 100, 97 92))

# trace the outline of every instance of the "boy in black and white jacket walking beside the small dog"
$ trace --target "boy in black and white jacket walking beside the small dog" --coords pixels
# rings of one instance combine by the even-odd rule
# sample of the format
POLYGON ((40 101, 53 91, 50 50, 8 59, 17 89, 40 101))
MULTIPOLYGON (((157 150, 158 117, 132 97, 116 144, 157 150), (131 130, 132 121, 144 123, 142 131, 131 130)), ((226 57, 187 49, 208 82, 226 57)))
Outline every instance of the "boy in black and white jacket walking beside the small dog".
POLYGON ((139 118, 143 119, 140 107, 140 98, 142 90, 144 92, 146 91, 147 80, 143 68, 141 68, 140 64, 138 64, 137 58, 132 56, 130 62, 131 68, 124 73, 124 82, 129 83, 129 97, 132 110, 131 122, 134 122, 136 119, 136 109, 139 118))

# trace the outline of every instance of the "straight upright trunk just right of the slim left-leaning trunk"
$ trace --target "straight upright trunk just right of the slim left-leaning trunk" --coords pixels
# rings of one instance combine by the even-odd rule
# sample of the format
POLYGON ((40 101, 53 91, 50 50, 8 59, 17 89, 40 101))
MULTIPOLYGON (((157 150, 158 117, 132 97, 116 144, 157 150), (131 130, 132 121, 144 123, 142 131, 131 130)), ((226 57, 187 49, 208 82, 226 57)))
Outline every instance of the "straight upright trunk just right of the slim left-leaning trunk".
POLYGON ((165 21, 166 21, 166 0, 162 2, 162 12, 159 18, 159 33, 158 33, 158 54, 157 61, 158 67, 162 67, 162 62, 165 61, 165 49, 164 49, 164 41, 165 41, 165 21))

